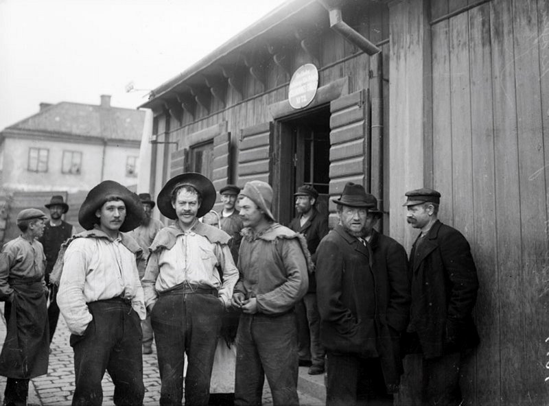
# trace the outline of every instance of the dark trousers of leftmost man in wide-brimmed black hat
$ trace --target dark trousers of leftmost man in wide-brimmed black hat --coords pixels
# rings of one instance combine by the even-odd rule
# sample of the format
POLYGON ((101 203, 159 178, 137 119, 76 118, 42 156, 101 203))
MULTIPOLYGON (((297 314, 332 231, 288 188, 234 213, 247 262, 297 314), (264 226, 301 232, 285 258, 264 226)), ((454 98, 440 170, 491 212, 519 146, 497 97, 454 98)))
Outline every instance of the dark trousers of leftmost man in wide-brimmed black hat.
POLYGON ((71 335, 76 389, 73 405, 101 405, 101 380, 108 371, 115 384, 115 405, 141 405, 143 356, 141 323, 121 299, 88 303, 93 316, 84 335, 71 335))

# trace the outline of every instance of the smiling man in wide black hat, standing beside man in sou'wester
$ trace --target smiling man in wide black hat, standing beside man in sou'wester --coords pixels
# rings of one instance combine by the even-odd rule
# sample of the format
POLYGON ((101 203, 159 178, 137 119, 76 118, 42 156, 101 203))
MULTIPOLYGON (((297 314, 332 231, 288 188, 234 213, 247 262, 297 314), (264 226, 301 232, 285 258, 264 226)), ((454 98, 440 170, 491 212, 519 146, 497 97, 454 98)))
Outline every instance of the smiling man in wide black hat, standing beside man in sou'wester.
POLYGON ((162 380, 161 405, 207 405, 222 315, 231 303, 238 271, 229 235, 198 221, 215 203, 215 189, 196 173, 174 176, 156 199, 173 226, 150 246, 143 278, 162 380))

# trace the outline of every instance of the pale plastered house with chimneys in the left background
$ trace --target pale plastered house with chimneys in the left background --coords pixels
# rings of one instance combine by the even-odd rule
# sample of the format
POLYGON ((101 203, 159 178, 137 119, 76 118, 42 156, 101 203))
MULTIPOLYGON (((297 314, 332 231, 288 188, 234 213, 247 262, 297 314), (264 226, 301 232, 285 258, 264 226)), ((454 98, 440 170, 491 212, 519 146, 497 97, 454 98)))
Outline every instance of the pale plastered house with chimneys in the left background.
POLYGON ((98 106, 40 104, 36 115, 1 131, 0 197, 10 215, 4 240, 19 235, 13 221, 19 210, 47 212, 51 195, 65 196, 65 217, 79 228, 78 209, 96 184, 110 179, 135 189, 144 120, 144 111, 110 106, 102 95, 98 106))

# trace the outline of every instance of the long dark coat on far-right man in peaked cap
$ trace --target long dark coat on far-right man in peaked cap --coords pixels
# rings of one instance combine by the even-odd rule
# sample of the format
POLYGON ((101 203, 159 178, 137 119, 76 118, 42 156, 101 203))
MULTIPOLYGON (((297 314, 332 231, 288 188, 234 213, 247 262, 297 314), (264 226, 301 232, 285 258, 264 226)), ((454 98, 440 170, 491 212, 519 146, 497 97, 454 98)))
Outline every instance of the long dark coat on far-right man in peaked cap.
POLYGON ((419 336, 423 356, 446 353, 478 344, 471 317, 478 278, 471 248, 463 235, 437 221, 410 252, 412 280, 410 330, 419 336))

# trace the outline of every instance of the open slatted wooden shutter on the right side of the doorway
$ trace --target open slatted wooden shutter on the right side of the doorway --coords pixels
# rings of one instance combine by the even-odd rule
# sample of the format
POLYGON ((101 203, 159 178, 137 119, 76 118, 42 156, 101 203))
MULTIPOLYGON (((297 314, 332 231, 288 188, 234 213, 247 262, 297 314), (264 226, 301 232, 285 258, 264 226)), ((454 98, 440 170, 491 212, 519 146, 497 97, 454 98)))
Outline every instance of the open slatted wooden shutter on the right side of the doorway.
MULTIPOLYGON (((342 193, 347 182, 368 189, 369 151, 366 148, 368 123, 365 91, 358 91, 330 103, 329 193, 342 193)), ((330 226, 335 222, 336 206, 330 202, 330 226)))

